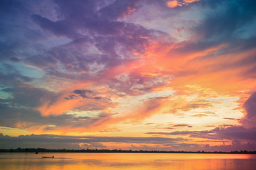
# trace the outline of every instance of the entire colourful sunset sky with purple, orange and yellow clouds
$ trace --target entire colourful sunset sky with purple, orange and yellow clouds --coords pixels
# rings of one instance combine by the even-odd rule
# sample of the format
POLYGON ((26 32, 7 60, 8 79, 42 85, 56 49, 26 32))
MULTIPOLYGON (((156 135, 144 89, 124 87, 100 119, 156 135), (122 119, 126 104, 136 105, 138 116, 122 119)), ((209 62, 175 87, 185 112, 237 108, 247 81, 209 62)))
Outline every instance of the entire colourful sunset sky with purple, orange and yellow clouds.
POLYGON ((256 1, 1 0, 0 145, 256 150, 256 1))

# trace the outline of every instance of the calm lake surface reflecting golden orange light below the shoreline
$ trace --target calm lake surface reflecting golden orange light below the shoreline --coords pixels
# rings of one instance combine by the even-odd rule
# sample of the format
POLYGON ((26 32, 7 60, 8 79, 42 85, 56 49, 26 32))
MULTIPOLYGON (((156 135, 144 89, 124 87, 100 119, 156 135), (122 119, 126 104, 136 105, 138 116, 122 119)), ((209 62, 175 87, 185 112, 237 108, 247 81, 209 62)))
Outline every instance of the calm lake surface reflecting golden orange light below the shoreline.
POLYGON ((1 170, 71 169, 246 169, 256 167, 255 154, 45 153, 0 154, 1 170), (52 157, 53 158, 42 158, 52 157))

